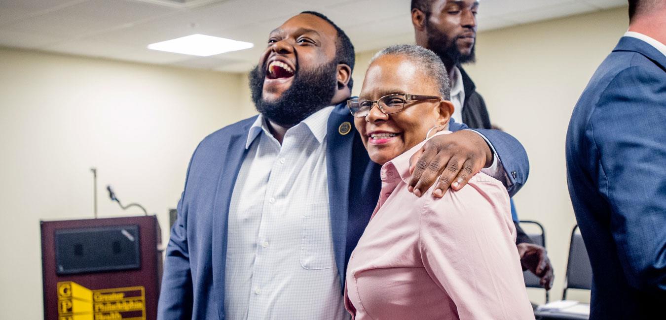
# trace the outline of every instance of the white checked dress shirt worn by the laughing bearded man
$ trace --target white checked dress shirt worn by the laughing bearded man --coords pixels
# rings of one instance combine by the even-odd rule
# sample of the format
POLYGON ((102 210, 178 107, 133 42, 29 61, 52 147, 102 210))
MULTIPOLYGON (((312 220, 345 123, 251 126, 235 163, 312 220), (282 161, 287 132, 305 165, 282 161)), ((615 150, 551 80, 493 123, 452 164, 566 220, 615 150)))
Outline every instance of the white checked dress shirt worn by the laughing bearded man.
MULTIPOLYGON (((228 216, 227 319, 347 319, 328 210, 332 106, 289 128, 282 145, 259 116, 228 216)), ((222 152, 222 150, 220 150, 222 152)))

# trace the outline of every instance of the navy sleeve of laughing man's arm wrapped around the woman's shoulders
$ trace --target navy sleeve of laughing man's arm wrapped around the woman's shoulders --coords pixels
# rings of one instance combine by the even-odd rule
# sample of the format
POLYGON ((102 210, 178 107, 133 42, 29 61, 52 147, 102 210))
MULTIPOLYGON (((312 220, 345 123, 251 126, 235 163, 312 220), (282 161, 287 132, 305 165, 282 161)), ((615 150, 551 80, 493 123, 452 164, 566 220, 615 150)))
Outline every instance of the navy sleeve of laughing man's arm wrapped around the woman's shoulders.
MULTIPOLYGON (((469 128, 465 124, 454 121, 449 124, 449 130, 453 132, 464 129, 469 128)), ((490 144, 492 144, 509 181, 507 192, 509 192, 509 196, 514 196, 523 187, 525 182, 527 182, 527 176, 529 176, 529 160, 527 159, 525 148, 511 134, 507 134, 506 132, 490 129, 472 130, 485 136, 490 141, 490 144)))

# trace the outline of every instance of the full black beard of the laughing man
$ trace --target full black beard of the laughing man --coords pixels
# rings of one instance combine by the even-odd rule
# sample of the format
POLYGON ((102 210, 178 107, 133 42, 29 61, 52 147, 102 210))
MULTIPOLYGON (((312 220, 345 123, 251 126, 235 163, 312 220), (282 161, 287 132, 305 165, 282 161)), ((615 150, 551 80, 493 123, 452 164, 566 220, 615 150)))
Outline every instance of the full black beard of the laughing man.
POLYGON ((256 110, 275 124, 290 128, 330 105, 335 95, 338 67, 335 60, 316 69, 298 70, 291 86, 275 101, 262 98, 265 67, 257 65, 250 71, 250 90, 256 110))

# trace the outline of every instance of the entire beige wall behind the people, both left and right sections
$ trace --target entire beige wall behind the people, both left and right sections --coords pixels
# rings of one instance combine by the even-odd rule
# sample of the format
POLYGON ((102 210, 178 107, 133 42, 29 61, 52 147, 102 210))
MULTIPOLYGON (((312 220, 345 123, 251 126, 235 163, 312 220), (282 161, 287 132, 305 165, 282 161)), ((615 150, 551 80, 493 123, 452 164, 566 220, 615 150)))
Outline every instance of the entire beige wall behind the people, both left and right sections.
MULTIPOLYGON (((625 11, 481 33, 478 63, 466 67, 493 122, 529 154, 529 182, 515 202, 521 219, 547 229, 555 299, 575 224, 565 131, 587 80, 627 28, 625 11)), ((357 56, 355 94, 373 54, 357 56)), ((91 166, 99 170, 100 216, 128 214, 103 192, 111 184, 123 202, 158 215, 166 243, 167 209, 196 144, 255 113, 245 75, 0 49, 0 83, 0 319, 42 317, 39 220, 92 216, 91 166)))

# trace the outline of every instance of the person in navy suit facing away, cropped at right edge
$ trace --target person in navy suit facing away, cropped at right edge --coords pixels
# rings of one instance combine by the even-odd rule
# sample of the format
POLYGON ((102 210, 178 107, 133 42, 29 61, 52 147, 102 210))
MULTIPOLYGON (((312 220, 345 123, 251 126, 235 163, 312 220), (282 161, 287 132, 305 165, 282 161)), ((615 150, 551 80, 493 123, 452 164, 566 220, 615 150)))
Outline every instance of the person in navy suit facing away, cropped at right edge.
POLYGON ((666 303, 666 1, 629 0, 629 31, 576 104, 566 140, 592 265, 590 319, 655 319, 666 303))

